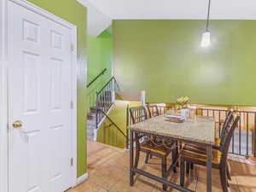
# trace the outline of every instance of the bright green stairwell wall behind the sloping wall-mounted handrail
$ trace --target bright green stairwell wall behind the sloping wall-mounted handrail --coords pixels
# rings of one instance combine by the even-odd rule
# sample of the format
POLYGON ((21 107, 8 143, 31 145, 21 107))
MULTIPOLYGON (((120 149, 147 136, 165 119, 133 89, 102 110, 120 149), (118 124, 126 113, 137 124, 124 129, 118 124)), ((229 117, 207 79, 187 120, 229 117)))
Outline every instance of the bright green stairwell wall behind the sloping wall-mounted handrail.
POLYGON ((97 79, 95 83, 91 84, 87 91, 87 111, 89 112, 89 108, 95 106, 96 91, 101 90, 103 85, 106 84, 112 76, 113 38, 109 29, 102 32, 102 34, 97 37, 88 35, 87 56, 88 83, 95 79, 104 68, 107 68, 107 72, 97 79))

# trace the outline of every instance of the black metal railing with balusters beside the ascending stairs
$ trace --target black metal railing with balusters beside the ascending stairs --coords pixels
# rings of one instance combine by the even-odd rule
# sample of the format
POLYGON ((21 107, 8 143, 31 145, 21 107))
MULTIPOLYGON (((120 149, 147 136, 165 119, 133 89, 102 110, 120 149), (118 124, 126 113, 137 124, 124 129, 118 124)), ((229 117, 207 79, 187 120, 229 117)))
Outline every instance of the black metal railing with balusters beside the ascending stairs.
POLYGON ((119 90, 119 84, 116 79, 112 77, 101 90, 96 92, 96 129, 102 123, 102 119, 106 117, 105 114, 108 113, 108 110, 112 107, 115 91, 119 90))

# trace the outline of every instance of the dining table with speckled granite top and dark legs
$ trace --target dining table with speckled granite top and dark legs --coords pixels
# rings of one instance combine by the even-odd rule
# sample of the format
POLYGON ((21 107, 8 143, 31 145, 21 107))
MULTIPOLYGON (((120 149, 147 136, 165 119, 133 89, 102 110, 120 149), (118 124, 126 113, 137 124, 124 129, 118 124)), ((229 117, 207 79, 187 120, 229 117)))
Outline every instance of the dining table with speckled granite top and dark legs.
POLYGON ((192 192, 167 178, 158 177, 134 166, 135 134, 147 137, 158 137, 163 140, 171 139, 179 143, 191 143, 207 149, 207 192, 212 192, 212 146, 215 141, 215 119, 213 117, 194 116, 185 119, 182 123, 172 122, 166 115, 145 119, 137 124, 129 125, 130 137, 130 185, 134 184, 135 174, 154 179, 173 189, 183 192, 192 192))

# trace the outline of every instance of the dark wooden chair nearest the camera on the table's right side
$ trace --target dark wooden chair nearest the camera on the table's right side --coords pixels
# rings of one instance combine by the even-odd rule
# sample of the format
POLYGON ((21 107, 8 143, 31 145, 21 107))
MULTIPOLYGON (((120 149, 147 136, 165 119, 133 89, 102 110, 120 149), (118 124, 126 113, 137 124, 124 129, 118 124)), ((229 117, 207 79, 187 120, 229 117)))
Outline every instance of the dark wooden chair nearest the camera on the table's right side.
MULTIPOLYGON (((233 137, 236 125, 240 120, 240 116, 230 115, 230 119, 224 127, 223 136, 221 137, 220 146, 214 146, 212 149, 212 168, 219 170, 222 189, 224 192, 228 192, 228 180, 227 180, 227 156, 230 148, 230 141, 233 137)), ((193 164, 207 166, 207 153, 206 150, 200 148, 193 148, 191 145, 185 145, 180 153, 180 184, 184 185, 185 179, 185 163, 190 162, 193 164)))

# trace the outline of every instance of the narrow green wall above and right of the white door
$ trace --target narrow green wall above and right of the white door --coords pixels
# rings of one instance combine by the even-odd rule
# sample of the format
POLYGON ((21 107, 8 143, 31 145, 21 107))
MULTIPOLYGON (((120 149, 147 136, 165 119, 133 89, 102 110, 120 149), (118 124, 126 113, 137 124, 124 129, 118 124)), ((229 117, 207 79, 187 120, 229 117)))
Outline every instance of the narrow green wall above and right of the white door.
POLYGON ((50 13, 78 26, 78 177, 87 171, 86 162, 86 9, 76 0, 29 0, 50 13))

